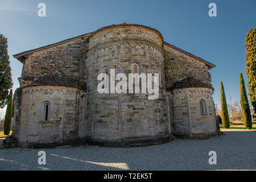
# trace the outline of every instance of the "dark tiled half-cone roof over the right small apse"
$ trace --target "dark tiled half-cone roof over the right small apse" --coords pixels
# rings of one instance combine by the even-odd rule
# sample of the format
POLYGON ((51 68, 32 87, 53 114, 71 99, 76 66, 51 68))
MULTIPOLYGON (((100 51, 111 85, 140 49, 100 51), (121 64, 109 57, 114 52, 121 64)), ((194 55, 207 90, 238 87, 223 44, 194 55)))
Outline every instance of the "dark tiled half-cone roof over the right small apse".
POLYGON ((182 89, 182 88, 213 88, 211 85, 205 84, 196 78, 193 77, 187 77, 183 78, 182 80, 174 82, 172 84, 170 90, 174 89, 182 89))

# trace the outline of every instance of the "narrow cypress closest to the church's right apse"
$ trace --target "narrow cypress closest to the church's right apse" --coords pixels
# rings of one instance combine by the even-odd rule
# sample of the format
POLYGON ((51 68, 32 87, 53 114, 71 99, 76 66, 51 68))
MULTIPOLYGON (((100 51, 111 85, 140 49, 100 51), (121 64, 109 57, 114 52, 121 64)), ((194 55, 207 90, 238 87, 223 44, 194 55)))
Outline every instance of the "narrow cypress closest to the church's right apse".
POLYGON ((221 115, 222 115, 222 123, 223 127, 226 129, 229 128, 229 113, 228 113, 228 106, 226 105, 226 96, 224 92, 224 86, 221 81, 221 115))

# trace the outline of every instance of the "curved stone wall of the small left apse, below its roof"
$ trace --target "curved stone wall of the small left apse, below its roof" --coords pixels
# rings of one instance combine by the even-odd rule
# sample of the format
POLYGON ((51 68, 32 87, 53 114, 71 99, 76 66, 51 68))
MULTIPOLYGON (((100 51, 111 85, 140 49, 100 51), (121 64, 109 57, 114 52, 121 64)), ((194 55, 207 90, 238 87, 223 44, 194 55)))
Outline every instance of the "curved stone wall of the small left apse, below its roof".
POLYGON ((30 86, 22 89, 19 144, 62 144, 79 139, 79 93, 64 86, 30 86), (49 121, 44 103, 49 103, 49 121))

